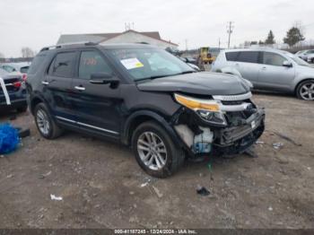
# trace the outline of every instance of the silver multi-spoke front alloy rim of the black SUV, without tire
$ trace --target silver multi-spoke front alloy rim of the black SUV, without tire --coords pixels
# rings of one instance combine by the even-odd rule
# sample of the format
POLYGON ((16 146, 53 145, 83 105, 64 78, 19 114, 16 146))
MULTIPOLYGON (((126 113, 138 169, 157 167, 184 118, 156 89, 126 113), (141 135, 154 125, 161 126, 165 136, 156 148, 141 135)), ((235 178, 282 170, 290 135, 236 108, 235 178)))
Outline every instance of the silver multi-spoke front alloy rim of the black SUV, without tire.
POLYGON ((166 145, 153 132, 144 132, 138 137, 137 152, 141 161, 151 170, 161 170, 166 165, 166 145))

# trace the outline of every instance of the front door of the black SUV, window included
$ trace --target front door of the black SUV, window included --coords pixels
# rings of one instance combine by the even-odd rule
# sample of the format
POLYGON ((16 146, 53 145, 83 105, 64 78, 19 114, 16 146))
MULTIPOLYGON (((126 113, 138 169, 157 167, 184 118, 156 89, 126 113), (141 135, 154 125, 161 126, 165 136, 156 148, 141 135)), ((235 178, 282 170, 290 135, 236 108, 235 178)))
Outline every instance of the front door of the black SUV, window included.
POLYGON ((96 49, 82 50, 77 64, 71 94, 77 124, 93 133, 118 137, 122 102, 119 87, 90 83, 91 74, 114 75, 113 70, 96 49))

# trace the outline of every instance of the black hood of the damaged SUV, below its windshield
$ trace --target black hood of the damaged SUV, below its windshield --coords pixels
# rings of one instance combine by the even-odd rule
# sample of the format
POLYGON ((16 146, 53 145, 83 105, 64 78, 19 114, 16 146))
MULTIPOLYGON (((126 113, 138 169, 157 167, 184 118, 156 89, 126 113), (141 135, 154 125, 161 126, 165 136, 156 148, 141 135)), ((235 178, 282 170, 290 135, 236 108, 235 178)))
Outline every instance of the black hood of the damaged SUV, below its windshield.
POLYGON ((201 72, 138 83, 140 91, 179 91, 199 95, 237 95, 250 91, 248 83, 231 74, 201 72))

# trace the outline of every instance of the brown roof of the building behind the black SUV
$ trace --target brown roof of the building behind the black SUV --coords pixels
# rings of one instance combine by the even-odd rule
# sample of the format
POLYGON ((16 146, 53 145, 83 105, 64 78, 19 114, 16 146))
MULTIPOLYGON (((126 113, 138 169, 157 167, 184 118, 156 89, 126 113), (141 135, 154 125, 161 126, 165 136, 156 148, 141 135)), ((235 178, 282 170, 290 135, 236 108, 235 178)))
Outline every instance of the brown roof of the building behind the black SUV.
POLYGON ((57 45, 70 43, 70 42, 80 42, 80 41, 103 42, 103 41, 118 37, 119 35, 125 34, 130 31, 142 34, 144 36, 147 36, 153 39, 170 43, 174 46, 178 46, 175 43, 161 39, 161 35, 159 34, 158 31, 141 31, 140 32, 140 31, 135 31, 135 30, 126 30, 124 32, 113 32, 113 33, 61 34, 60 38, 57 40, 57 45))

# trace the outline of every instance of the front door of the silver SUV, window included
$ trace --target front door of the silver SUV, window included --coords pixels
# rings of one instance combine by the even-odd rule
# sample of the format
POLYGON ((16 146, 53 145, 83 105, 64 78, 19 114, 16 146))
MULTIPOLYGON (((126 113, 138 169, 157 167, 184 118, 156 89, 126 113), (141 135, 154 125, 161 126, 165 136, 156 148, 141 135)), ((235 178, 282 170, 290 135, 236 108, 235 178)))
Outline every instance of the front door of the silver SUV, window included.
POLYGON ((258 72, 259 86, 274 91, 289 90, 295 75, 295 68, 283 66, 283 62, 287 60, 275 52, 263 52, 258 72))

